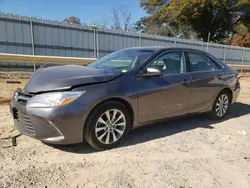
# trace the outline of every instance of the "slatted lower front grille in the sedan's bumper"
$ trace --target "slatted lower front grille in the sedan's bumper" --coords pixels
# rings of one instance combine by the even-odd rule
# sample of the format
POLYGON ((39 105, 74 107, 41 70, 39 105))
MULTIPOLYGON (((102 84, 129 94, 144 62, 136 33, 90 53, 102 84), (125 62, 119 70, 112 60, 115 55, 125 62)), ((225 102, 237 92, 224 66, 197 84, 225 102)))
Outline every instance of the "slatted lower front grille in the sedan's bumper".
POLYGON ((17 111, 14 109, 13 111, 14 119, 19 123, 20 128, 24 132, 24 134, 33 136, 35 134, 34 127, 32 126, 32 123, 30 122, 30 118, 27 114, 21 113, 20 111, 17 111))

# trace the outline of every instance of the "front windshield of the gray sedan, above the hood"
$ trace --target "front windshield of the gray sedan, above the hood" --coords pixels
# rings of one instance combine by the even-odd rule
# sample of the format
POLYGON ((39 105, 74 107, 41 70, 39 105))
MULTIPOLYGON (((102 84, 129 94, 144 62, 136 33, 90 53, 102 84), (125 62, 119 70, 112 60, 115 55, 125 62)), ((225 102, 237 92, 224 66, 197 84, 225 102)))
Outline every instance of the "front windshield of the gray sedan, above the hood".
POLYGON ((154 50, 150 49, 125 49, 104 56, 88 66, 117 72, 128 72, 142 64, 153 53, 154 50))

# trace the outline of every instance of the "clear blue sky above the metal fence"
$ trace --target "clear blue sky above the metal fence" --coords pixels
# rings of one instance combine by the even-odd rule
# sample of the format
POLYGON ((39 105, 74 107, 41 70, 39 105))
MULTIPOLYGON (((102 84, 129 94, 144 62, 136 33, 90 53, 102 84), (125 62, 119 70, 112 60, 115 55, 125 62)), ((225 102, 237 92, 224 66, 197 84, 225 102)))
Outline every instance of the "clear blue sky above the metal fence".
POLYGON ((76 16, 86 24, 102 24, 111 19, 111 9, 127 6, 136 22, 145 16, 140 0, 0 0, 0 12, 62 21, 76 16))

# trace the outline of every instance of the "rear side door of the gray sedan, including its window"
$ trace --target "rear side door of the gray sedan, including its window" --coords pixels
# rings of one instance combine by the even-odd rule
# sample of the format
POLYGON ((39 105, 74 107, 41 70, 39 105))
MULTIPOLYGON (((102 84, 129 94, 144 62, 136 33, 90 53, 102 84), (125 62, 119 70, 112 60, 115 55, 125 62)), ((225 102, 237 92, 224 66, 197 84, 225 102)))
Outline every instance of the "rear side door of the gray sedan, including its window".
POLYGON ((185 51, 185 57, 192 78, 188 113, 206 111, 223 87, 223 67, 203 52, 185 51))

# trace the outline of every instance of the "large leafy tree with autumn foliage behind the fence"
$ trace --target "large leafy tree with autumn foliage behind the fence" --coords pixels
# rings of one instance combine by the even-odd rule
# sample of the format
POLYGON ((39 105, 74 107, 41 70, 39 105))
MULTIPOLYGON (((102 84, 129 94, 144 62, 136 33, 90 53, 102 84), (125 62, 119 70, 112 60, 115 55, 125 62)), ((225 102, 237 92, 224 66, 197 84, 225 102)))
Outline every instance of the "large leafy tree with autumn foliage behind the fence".
POLYGON ((250 27, 249 0, 141 0, 141 7, 149 14, 143 23, 145 32, 150 20, 158 28, 185 28, 184 32, 194 31, 203 41, 210 33, 211 41, 221 41, 232 35, 239 23, 250 27))

